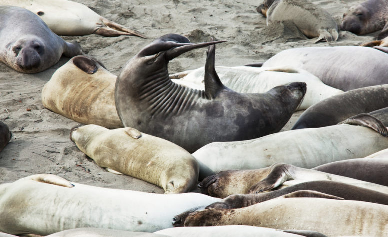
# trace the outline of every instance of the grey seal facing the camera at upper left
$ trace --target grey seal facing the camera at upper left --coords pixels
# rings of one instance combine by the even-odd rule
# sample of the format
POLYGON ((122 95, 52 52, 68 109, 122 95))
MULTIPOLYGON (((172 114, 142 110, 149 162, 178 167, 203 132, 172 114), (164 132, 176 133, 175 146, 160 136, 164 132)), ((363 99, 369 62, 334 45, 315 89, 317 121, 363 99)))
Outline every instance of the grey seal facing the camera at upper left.
POLYGON ((23 73, 37 73, 57 63, 62 54, 82 53, 78 43, 67 43, 37 15, 24 8, 0 6, 0 62, 23 73))

